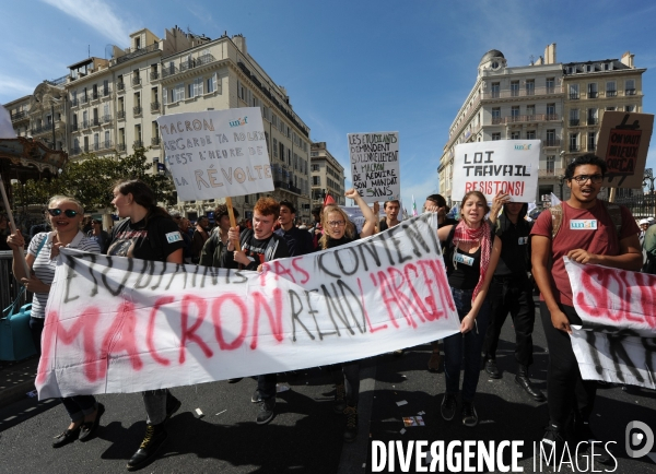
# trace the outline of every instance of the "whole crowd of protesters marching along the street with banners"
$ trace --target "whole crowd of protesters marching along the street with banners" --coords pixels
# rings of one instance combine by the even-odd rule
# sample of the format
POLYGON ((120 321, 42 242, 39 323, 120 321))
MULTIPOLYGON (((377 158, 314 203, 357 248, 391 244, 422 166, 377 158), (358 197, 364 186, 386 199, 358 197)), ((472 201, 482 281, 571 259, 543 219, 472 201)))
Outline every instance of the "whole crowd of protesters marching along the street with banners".
MULTIPOLYGON (((569 341, 570 327, 581 324, 581 318, 572 304, 563 257, 583 264, 656 273, 656 226, 651 225, 653 221, 643 220, 639 227, 625 208, 597 199, 605 173, 605 162, 594 155, 574 159, 565 171, 570 199, 543 212, 535 222, 526 217, 527 204, 511 202, 501 193, 490 209, 483 194, 468 192, 459 203, 458 220, 448 216, 442 195, 426 198, 424 210, 437 214, 436 232, 460 320, 460 331, 443 341, 443 360, 440 343, 434 341, 427 364, 429 370, 438 371, 444 363, 446 390, 436 410, 445 420, 452 422, 459 413, 465 426, 478 425, 475 399, 479 375, 484 368, 491 378, 501 378, 496 351, 501 328, 509 313, 515 332, 515 382, 535 401, 547 400, 549 404, 550 419, 542 442, 559 448, 570 440, 597 439, 589 418, 597 384, 582 379, 569 341), (597 225, 577 230, 569 225, 575 220, 594 220, 597 225), (539 315, 550 355, 547 398, 529 378, 536 288, 540 292, 539 315)), ((345 197, 354 200, 362 212, 364 224, 360 232, 338 205, 313 210, 313 223, 308 224, 296 222, 292 202, 272 198, 259 199, 253 218, 242 220, 235 226, 231 225, 227 206, 218 205, 212 228, 207 216, 192 225, 180 214, 169 215, 156 205, 145 183, 127 180, 114 188, 113 205, 122 221, 110 234, 93 220, 86 232, 81 232, 80 203, 54 197, 47 209, 49 228, 36 234, 28 245, 31 274, 16 264, 26 244, 21 233, 5 236, 4 240, 16 256, 16 279, 35 293, 31 325, 38 346, 55 259, 62 246, 144 260, 260 271, 265 262, 325 251, 399 224, 398 201, 385 202, 385 217, 379 218, 377 206, 372 210, 356 191, 349 190, 345 197)), ((238 217, 235 211, 234 218, 238 217)), ((7 234, 5 221, 0 216, 2 235, 7 234)), ((402 349, 395 354, 402 354, 402 349)), ((345 362, 330 367, 330 371, 336 384, 333 411, 344 415, 343 439, 351 442, 359 436, 360 364, 345 362)), ((258 425, 270 423, 276 416, 277 379, 277 374, 257 376, 251 402, 259 405, 258 425)), ((181 405, 167 389, 143 392, 142 398, 147 430, 128 462, 129 470, 152 461, 166 439, 166 420, 181 405)), ((91 395, 62 401, 71 422, 52 447, 93 438, 104 406, 91 395)))

